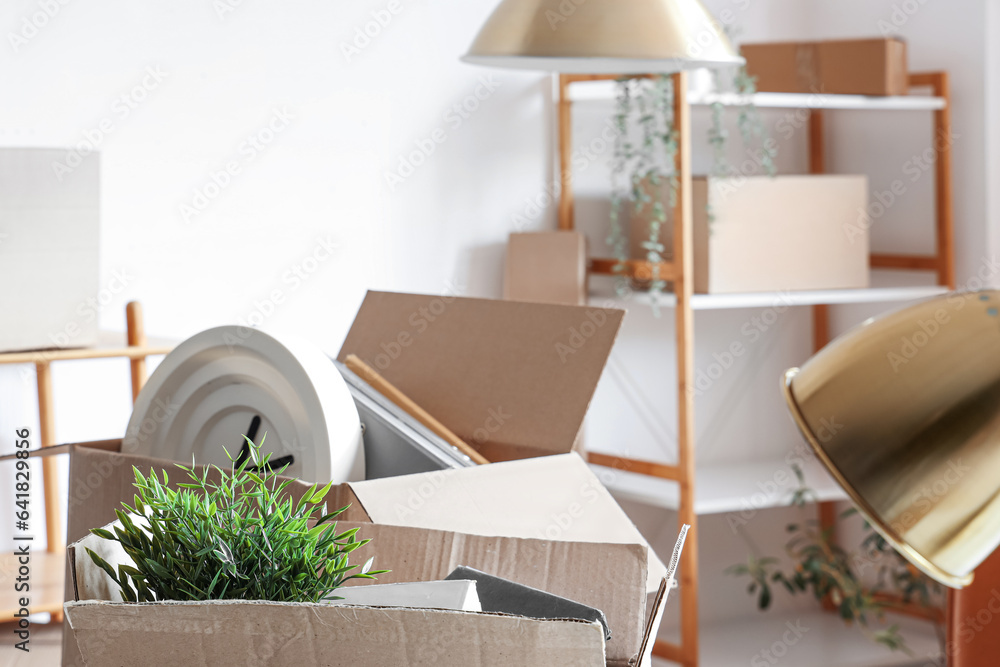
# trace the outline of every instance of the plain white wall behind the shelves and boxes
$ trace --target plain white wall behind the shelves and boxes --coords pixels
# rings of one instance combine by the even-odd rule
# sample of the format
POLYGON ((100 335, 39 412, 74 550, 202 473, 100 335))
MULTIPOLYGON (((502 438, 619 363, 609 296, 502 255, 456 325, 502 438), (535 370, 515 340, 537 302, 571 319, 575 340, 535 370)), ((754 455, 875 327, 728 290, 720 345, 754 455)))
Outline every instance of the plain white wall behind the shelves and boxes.
MULTIPOLYGON (((536 210, 532 204, 544 203, 552 178, 549 80, 458 61, 494 4, 70 2, 57 5, 46 25, 15 49, 8 32, 19 34, 40 4, 12 0, 0 8, 6 37, 0 45, 0 146, 74 145, 95 137, 102 124, 112 128, 99 142, 102 284, 116 270, 130 280, 102 312, 105 328, 122 329, 125 302, 140 299, 152 335, 182 338, 217 324, 263 319, 265 328, 294 330, 335 351, 366 289, 498 296, 502 244, 515 218, 521 216, 527 228, 554 225, 552 206, 536 210), (386 21, 390 6, 399 11, 386 21), (349 62, 342 45, 374 20, 373 12, 386 25, 349 62), (162 72, 162 81, 149 77, 147 68, 162 72), (484 99, 476 99, 477 91, 484 99), (123 101, 122 95, 143 99, 123 101), (123 106, 128 101, 135 108, 123 106), (453 109, 462 104, 475 108, 467 118, 453 109), (287 124, 275 120, 275 109, 287 111, 287 124), (248 148, 248 135, 272 120, 280 128, 273 141, 260 151, 248 148), (444 140, 412 175, 390 187, 386 173, 432 137, 444 140), (211 188, 213 173, 231 161, 240 173, 186 222, 181 205, 193 204, 196 191, 211 188), (317 261, 308 280, 292 278, 290 271, 317 251, 323 254, 320 240, 327 239, 338 244, 335 256, 317 261), (272 313, 265 300, 274 290, 285 301, 272 313)), ((877 21, 891 18, 898 3, 707 4, 716 12, 732 9, 743 39, 767 40, 875 35, 877 21)), ((917 4, 917 13, 899 27, 910 41, 913 67, 944 68, 953 76, 962 137, 955 154, 962 281, 975 272, 985 249, 1000 251, 1000 138, 987 123, 1000 109, 1000 56, 987 39, 1000 19, 995 3, 986 0, 917 4)), ((607 113, 579 114, 579 140, 598 131, 607 113)), ((777 117, 766 119, 773 123, 777 117)), ((696 122, 703 128, 705 119, 696 122)), ((833 130, 847 139, 832 146, 834 167, 874 163, 873 183, 891 181, 907 151, 926 143, 921 122, 835 120, 833 130), (897 131, 896 123, 906 131, 897 131), (892 149, 899 153, 869 143, 873 134, 887 132, 900 137, 902 145, 892 149)), ((804 168, 802 135, 788 142, 781 160, 786 171, 804 168)), ((606 183, 600 164, 579 175, 580 224, 595 230, 595 244, 602 236, 606 183)), ((876 244, 927 244, 929 183, 917 186, 873 230, 876 244)), ((713 352, 738 339, 742 325, 757 314, 699 315, 696 366, 711 363, 713 352)), ((838 324, 858 317, 855 312, 838 324)), ((588 441, 669 460, 675 403, 671 319, 639 311, 626 326, 593 405, 588 441)), ((734 447, 743 455, 778 452, 797 437, 782 420, 777 391, 760 387, 776 387, 778 374, 809 354, 808 330, 805 311, 783 314, 780 326, 754 343, 699 403, 704 460, 724 459, 734 447)), ((30 372, 0 372, 0 450, 16 425, 35 419, 30 380, 30 372)), ((126 366, 118 362, 57 367, 58 439, 121 434, 129 409, 126 380, 126 366)), ((0 477, 0 511, 11 495, 6 483, 0 477)), ((653 525, 650 516, 637 518, 653 525)), ((666 545, 672 531, 660 537, 666 545)), ((731 541, 722 535, 716 543, 731 541)), ((703 553, 711 551, 706 541, 703 553)), ((732 562, 731 551, 709 558, 703 575, 714 577, 732 562)), ((733 590, 738 594, 739 587, 733 590)), ((729 605, 715 613, 733 611, 741 609, 729 605)))

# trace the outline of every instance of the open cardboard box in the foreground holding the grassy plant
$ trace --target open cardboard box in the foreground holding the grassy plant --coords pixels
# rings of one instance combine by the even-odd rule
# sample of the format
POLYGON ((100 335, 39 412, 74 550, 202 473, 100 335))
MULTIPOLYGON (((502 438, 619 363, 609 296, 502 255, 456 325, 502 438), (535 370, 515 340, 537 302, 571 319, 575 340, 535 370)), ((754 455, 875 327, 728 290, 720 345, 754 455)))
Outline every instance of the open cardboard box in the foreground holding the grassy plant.
MULTIPOLYGON (((70 541, 98 543, 87 533, 131 499, 133 465, 182 479, 175 464, 120 453, 120 445, 70 447, 70 541)), ((307 488, 298 482, 289 490, 297 497, 307 488)), ((331 505, 352 503, 340 524, 373 538, 357 561, 375 555, 377 567, 393 570, 380 583, 435 581, 467 565, 601 609, 611 639, 605 643, 599 623, 474 612, 115 603, 113 582, 71 548, 68 599, 79 602, 66 606, 63 664, 263 664, 272 650, 267 664, 299 667, 330 664, 331 656, 333 664, 380 666, 464 667, 470 656, 482 665, 649 664, 666 570, 577 455, 356 482, 330 493, 331 505)))

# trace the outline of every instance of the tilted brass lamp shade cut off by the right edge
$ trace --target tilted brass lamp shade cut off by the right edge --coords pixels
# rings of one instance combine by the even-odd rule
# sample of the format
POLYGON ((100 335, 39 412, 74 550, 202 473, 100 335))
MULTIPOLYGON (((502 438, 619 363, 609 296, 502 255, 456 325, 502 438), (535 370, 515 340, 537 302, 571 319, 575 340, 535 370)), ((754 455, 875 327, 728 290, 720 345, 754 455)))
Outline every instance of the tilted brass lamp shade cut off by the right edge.
POLYGON ((819 459, 872 526, 962 588, 1000 544, 1000 291, 869 320, 785 374, 819 459))

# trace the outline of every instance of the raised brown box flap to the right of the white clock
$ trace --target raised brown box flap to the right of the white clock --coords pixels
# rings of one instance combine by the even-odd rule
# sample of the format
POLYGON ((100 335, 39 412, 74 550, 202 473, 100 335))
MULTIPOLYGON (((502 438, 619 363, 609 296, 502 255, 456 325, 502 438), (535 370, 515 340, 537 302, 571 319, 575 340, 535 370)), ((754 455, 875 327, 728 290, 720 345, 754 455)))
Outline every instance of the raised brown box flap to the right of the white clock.
POLYGON ((571 451, 624 311, 369 292, 356 354, 491 461, 571 451))

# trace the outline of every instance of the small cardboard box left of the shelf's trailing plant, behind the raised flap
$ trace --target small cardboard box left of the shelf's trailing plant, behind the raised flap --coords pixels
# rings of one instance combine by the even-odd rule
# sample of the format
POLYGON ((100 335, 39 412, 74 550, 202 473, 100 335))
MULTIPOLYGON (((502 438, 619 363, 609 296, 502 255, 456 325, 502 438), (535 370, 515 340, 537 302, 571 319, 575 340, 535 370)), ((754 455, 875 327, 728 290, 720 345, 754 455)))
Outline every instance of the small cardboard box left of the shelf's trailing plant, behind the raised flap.
POLYGON ((503 298, 586 305, 587 237, 573 231, 511 234, 503 298))

